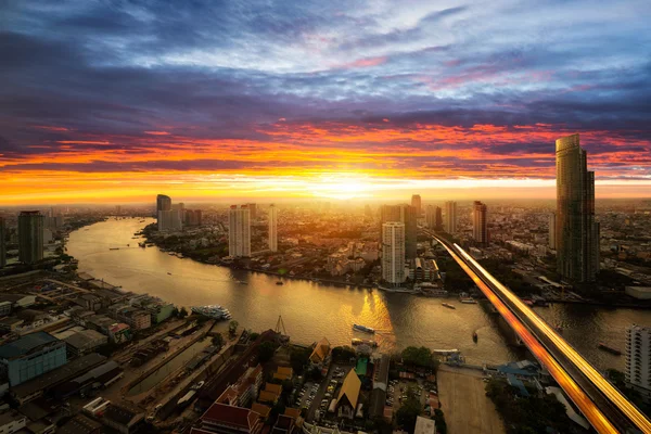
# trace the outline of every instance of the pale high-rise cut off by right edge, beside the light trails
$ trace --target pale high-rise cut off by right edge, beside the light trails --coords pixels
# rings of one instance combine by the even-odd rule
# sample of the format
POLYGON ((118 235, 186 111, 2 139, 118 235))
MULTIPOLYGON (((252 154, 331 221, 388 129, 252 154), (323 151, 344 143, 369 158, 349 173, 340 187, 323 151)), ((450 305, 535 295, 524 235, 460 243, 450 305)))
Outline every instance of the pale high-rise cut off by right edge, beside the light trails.
POLYGON ((626 330, 626 383, 642 398, 651 400, 651 328, 631 326, 626 330))

